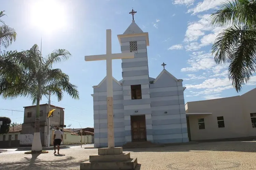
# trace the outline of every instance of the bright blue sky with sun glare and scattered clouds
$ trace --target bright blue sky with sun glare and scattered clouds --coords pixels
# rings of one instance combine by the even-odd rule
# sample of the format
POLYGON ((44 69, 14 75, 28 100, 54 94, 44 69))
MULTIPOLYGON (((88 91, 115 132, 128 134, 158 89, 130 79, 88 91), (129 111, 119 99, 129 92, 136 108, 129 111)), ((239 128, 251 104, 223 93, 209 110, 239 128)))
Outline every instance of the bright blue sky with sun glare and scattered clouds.
MULTIPOLYGON (((112 53, 120 53, 117 35, 134 20, 149 34, 149 75, 156 78, 165 62, 166 70, 183 79, 185 103, 244 94, 255 88, 256 75, 237 93, 228 79, 227 65, 216 65, 211 54, 215 37, 223 28, 210 24, 210 15, 222 0, 0 0, 5 23, 17 32, 16 41, 6 50, 27 50, 34 44, 46 56, 66 49, 72 57, 54 68, 69 75, 78 86, 80 100, 64 95, 51 104, 65 108, 70 128, 93 127, 93 88, 106 76, 105 61, 85 62, 85 55, 105 54, 106 29, 112 30, 112 53), (81 125, 81 126, 80 126, 81 125)), ((121 60, 112 62, 113 77, 122 79, 121 60)), ((45 104, 47 98, 40 102, 45 104)), ((31 99, 0 99, 0 116, 23 123, 24 106, 31 99), (5 110, 4 110, 5 109, 5 110), (6 110, 9 109, 9 110, 6 110)))

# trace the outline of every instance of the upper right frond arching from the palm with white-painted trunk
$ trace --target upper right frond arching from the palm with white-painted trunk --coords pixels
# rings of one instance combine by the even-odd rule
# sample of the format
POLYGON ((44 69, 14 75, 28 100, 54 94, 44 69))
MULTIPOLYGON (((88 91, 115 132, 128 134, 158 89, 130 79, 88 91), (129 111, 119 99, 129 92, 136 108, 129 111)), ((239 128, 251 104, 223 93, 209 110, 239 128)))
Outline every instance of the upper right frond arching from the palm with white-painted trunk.
POLYGON ((51 68, 53 64, 66 61, 71 56, 72 55, 69 53, 68 50, 58 49, 54 50, 51 54, 48 54, 44 59, 44 62, 46 67, 51 68))

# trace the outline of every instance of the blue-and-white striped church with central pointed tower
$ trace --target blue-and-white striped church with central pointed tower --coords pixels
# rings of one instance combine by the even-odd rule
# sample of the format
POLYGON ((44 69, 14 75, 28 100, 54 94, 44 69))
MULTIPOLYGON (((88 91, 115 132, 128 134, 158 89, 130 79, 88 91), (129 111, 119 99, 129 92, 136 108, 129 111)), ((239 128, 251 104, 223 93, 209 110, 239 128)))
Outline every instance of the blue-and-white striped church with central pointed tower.
MULTIPOLYGON (((149 77, 148 33, 134 20, 117 37, 122 53, 134 52, 134 58, 122 59, 122 80, 113 78, 115 147, 137 141, 188 142, 183 80, 166 69, 149 77)), ((106 77, 93 88, 94 147, 108 147, 106 77)))

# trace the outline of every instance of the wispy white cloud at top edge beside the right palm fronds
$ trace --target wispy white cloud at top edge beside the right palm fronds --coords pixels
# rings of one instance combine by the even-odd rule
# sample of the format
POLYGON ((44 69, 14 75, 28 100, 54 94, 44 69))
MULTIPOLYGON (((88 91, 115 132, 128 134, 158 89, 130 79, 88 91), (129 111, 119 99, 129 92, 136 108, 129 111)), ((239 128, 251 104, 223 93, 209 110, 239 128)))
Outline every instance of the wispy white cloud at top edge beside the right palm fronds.
POLYGON ((203 2, 199 2, 196 7, 189 9, 188 13, 192 12, 192 14, 195 15, 203 11, 208 11, 210 9, 216 8, 223 2, 223 0, 204 0, 203 2))

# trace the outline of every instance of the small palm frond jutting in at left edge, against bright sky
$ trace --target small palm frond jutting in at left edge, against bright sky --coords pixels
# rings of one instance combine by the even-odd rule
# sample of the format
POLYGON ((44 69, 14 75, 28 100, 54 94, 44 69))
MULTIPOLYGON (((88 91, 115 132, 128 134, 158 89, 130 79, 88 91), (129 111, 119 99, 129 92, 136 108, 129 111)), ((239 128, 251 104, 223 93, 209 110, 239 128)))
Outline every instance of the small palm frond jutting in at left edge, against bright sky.
POLYGON ((0 47, 4 48, 9 47, 13 41, 16 40, 16 32, 13 28, 9 26, 1 26, 0 27, 0 47))

